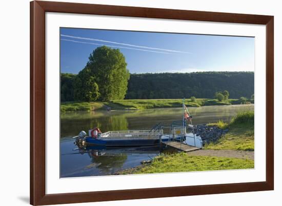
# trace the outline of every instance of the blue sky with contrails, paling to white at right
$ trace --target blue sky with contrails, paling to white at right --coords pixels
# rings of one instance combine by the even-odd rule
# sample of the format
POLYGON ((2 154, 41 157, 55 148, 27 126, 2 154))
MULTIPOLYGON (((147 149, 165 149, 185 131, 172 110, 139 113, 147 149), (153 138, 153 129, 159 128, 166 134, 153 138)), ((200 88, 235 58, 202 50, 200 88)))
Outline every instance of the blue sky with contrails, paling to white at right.
POLYGON ((102 45, 119 49, 130 73, 254 71, 254 37, 61 28, 61 72, 77 74, 102 45))

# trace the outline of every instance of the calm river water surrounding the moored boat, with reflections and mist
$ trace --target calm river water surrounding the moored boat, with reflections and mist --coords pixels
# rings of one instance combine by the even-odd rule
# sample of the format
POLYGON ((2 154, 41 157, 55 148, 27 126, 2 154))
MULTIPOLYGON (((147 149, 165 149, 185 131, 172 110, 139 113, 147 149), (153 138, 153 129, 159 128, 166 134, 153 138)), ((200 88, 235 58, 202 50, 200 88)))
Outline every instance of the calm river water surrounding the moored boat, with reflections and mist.
MULTIPOLYGON (((229 122, 239 111, 253 110, 253 105, 206 106, 188 108, 193 116, 193 125, 216 122, 220 119, 229 122)), ((161 152, 172 152, 159 147, 141 148, 91 148, 73 150, 72 136, 80 131, 98 127, 102 132, 112 130, 151 129, 162 122, 169 127, 175 120, 181 120, 182 108, 162 108, 142 111, 93 111, 71 112, 61 115, 61 177, 112 175, 117 171, 140 165, 161 152)), ((169 130, 165 129, 164 133, 169 130)))

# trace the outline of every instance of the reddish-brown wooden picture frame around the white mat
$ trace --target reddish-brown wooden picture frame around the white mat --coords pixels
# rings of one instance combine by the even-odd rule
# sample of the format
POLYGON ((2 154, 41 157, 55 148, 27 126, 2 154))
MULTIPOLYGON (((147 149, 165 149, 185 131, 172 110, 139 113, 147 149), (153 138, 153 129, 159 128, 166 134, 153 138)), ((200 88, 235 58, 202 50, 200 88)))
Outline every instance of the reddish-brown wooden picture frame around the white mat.
POLYGON ((42 2, 30 3, 30 203, 33 205, 142 199, 274 189, 274 17, 124 7, 110 5, 42 2), (45 12, 134 16, 210 22, 266 25, 266 181, 204 186, 118 190, 104 192, 45 193, 45 12))

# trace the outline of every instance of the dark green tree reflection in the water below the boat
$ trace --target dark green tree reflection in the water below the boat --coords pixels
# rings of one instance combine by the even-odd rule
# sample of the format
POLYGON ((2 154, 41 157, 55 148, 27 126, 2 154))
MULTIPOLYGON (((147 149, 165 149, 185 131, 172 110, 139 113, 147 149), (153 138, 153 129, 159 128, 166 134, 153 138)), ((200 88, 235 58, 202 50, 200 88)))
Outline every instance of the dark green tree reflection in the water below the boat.
POLYGON ((97 152, 93 151, 89 152, 89 156, 92 159, 92 163, 96 163, 98 165, 97 168, 103 170, 105 173, 121 168, 127 160, 126 154, 118 156, 97 156, 97 152))

